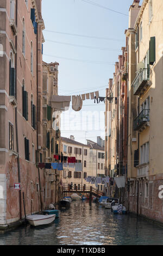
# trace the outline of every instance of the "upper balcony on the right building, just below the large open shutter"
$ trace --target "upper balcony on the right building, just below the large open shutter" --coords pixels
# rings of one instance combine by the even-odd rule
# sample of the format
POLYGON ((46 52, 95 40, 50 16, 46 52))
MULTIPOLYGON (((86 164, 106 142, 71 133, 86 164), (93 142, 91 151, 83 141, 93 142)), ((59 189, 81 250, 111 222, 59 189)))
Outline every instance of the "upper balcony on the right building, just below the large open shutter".
POLYGON ((135 77, 133 81, 134 95, 140 95, 143 89, 149 87, 149 68, 140 69, 139 74, 135 77))

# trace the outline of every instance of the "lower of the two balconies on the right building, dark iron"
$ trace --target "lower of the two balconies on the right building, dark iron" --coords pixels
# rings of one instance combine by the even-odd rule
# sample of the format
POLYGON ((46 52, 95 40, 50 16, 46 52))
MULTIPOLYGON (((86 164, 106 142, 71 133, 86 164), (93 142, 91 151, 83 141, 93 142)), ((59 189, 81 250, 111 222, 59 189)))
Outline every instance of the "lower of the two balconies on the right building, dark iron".
POLYGON ((134 120, 134 131, 143 131, 149 126, 149 109, 143 109, 134 120))

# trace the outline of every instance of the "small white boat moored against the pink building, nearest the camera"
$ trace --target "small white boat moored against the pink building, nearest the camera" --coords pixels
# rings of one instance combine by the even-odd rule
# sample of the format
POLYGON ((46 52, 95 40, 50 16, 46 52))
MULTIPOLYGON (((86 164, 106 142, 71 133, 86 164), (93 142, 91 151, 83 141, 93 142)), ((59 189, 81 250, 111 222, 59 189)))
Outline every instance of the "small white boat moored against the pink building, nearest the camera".
POLYGON ((34 215, 28 215, 26 219, 30 225, 38 226, 38 225, 47 225, 52 223, 55 220, 55 216, 56 216, 55 214, 51 214, 51 215, 34 214, 34 215))

